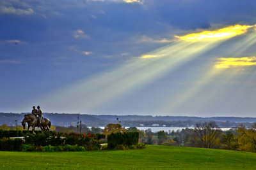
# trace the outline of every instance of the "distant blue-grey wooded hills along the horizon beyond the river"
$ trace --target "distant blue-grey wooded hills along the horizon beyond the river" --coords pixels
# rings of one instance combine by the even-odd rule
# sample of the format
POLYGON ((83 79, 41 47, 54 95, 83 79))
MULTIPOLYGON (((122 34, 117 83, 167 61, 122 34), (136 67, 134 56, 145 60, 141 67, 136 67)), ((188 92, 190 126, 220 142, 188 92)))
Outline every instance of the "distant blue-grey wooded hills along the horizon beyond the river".
MULTIPOLYGON (((15 125, 20 124, 25 114, 28 113, 0 113, 0 125, 15 125)), ((68 113, 44 113, 43 117, 49 118, 52 125, 59 126, 76 126, 77 114, 68 113)), ((196 122, 215 121, 219 127, 237 127, 241 123, 250 127, 256 118, 250 117, 173 117, 173 116, 142 116, 142 115, 79 115, 79 121, 87 126, 106 126, 107 124, 116 124, 117 120, 122 122, 124 126, 159 126, 166 125, 167 127, 194 127, 196 122)))

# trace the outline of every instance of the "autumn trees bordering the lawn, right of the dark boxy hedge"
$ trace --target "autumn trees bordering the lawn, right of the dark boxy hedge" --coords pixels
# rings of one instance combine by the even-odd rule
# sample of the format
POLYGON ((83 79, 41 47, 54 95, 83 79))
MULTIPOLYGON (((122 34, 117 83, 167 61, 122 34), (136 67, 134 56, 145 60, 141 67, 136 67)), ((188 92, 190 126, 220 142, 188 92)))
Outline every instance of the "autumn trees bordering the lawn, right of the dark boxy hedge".
POLYGON ((172 132, 145 131, 142 139, 150 145, 190 146, 256 152, 256 123, 250 128, 241 124, 229 131, 221 131, 216 122, 200 122, 194 129, 172 132))

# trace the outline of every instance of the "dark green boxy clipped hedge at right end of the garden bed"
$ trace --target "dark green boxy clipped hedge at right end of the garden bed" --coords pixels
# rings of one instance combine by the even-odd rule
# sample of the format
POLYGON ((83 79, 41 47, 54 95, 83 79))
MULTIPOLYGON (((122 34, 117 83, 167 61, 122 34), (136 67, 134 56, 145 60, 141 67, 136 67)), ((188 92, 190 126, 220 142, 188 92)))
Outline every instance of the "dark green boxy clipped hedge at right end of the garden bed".
POLYGON ((138 145, 139 132, 117 132, 108 135, 108 148, 114 149, 118 145, 132 146, 138 145))

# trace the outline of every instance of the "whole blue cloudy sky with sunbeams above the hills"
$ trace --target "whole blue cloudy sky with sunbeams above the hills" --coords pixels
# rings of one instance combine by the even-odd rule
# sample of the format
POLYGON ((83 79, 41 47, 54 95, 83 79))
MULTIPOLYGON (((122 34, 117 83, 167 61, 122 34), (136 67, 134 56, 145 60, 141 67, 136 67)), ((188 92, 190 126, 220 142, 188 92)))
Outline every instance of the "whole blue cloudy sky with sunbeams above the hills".
POLYGON ((0 1, 0 112, 256 117, 256 1, 0 1))

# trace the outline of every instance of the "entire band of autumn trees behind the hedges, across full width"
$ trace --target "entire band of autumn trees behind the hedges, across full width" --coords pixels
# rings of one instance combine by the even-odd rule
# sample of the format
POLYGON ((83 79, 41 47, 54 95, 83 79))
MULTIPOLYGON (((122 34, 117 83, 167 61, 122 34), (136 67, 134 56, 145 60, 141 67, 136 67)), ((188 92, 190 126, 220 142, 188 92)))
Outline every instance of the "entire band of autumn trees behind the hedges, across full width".
MULTIPOLYGON (((0 129, 20 130, 21 127, 8 127, 4 124, 0 129)), ((108 124, 104 129, 99 127, 88 128, 83 125, 82 133, 102 133, 108 136, 112 132, 139 132, 139 141, 148 145, 190 146, 199 148, 216 148, 227 150, 241 150, 256 152, 256 122, 250 128, 241 124, 229 131, 221 131, 216 122, 198 122, 194 129, 182 129, 181 131, 152 132, 151 129, 140 131, 136 127, 125 129, 121 124, 108 124)), ((52 131, 76 132, 77 127, 53 126, 52 131)))

